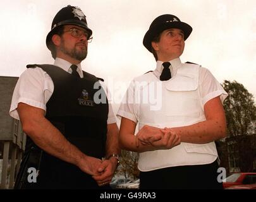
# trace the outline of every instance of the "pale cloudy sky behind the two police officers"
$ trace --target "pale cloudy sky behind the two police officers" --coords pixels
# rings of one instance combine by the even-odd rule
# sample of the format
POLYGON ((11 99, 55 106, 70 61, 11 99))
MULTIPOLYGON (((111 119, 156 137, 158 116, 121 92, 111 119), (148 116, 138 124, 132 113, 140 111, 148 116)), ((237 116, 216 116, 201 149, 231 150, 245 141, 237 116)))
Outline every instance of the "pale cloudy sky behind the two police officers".
POLYGON ((201 64, 220 83, 236 80, 256 97, 255 0, 1 0, 0 76, 20 76, 27 64, 54 62, 46 35, 68 4, 82 9, 93 32, 82 69, 104 78, 115 111, 130 81, 155 69, 142 40, 150 23, 168 13, 193 28, 182 62, 201 64))

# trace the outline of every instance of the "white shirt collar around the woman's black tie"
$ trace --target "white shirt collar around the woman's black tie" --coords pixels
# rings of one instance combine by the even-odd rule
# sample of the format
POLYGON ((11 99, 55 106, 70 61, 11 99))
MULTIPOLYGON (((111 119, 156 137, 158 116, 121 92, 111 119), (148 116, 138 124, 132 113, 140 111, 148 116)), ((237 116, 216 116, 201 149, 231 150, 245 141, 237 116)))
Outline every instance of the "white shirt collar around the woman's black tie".
MULTIPOLYGON (((177 73, 178 68, 181 66, 181 60, 180 57, 173 59, 171 61, 168 61, 171 63, 171 65, 169 66, 169 69, 171 70, 171 76, 175 76, 177 73)), ((157 61, 156 64, 156 68, 153 71, 153 73, 155 74, 155 76, 157 76, 158 79, 160 79, 160 75, 162 73, 162 69, 164 69, 164 67, 162 66, 162 61, 157 61)))

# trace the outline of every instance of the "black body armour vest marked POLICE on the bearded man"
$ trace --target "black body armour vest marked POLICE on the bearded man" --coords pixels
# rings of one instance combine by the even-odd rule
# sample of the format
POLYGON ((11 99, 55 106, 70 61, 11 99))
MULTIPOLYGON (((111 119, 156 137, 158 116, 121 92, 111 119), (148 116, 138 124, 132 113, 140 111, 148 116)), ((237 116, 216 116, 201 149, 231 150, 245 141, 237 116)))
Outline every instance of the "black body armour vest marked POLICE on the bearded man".
MULTIPOLYGON (((61 131, 70 143, 86 155, 95 158, 105 157, 109 108, 102 86, 97 83, 97 88, 94 89, 99 79, 85 71, 83 71, 83 78, 77 78, 58 66, 50 64, 27 66, 27 68, 35 67, 46 71, 54 83, 54 92, 46 105, 46 118, 61 131), (101 96, 96 96, 96 98, 105 102, 97 104, 94 102, 94 95, 99 94, 101 96)), ((77 178, 80 175, 85 175, 75 165, 43 152, 40 175, 51 175, 50 173, 54 175, 52 178, 56 175, 73 174, 73 177, 76 176, 75 183, 78 183, 77 178)))

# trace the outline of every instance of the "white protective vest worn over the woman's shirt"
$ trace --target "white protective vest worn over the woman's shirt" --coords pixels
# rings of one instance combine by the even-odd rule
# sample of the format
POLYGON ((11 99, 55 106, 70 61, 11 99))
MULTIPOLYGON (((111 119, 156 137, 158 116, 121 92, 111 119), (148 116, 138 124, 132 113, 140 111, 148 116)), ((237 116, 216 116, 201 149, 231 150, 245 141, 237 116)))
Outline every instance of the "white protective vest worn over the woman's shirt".
MULTIPOLYGON (((198 91, 199 68, 200 66, 196 64, 182 64, 171 80, 161 82, 162 107, 160 110, 152 110, 152 105, 142 103, 142 94, 145 97, 147 90, 149 94, 152 93, 152 88, 149 88, 149 85, 152 86, 152 82, 159 83, 154 73, 148 73, 147 84, 144 83, 145 85, 135 88, 137 89, 135 90, 136 96, 141 99, 137 114, 139 130, 144 125, 173 128, 189 126, 206 120, 202 98, 198 91)), ((145 76, 138 78, 138 81, 140 79, 145 81, 145 76)), ((156 84, 154 85, 156 86, 156 84)), ((216 158, 217 150, 214 142, 206 144, 181 143, 169 150, 140 153, 138 169, 149 171, 179 165, 200 165, 212 163, 216 158)))

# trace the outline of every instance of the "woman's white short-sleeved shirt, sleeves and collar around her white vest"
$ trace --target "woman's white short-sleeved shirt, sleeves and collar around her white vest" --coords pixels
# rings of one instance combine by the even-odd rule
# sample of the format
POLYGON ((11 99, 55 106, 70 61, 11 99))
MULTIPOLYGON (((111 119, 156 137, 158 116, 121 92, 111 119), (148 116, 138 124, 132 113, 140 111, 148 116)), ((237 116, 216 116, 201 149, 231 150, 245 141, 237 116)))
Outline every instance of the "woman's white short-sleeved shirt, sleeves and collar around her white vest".
MULTIPOLYGON (((180 58, 173 59, 172 61, 169 61, 171 65, 169 66, 169 69, 171 71, 172 77, 176 75, 178 68, 182 65, 180 58)), ((162 73, 162 69, 164 67, 162 66, 162 61, 157 61, 156 68, 153 71, 154 75, 160 80, 160 75, 162 73)), ((143 78, 146 78, 147 76, 150 77, 150 73, 143 74, 143 78)), ((134 78, 130 86, 127 89, 126 95, 124 96, 123 102, 121 103, 117 116, 119 118, 125 117, 127 119, 130 119, 131 121, 137 123, 138 122, 138 115, 140 114, 140 107, 137 104, 134 104, 135 97, 135 86, 137 81, 141 81, 141 76, 138 76, 137 78, 134 78)), ((199 93, 202 97, 202 105, 205 105, 207 101, 210 99, 217 97, 220 95, 221 101, 223 102, 224 99, 228 96, 228 93, 224 91, 220 83, 214 78, 212 73, 206 68, 200 68, 199 69, 199 93)), ((149 114, 150 116, 150 114, 149 114)))

